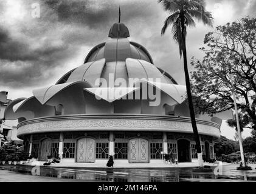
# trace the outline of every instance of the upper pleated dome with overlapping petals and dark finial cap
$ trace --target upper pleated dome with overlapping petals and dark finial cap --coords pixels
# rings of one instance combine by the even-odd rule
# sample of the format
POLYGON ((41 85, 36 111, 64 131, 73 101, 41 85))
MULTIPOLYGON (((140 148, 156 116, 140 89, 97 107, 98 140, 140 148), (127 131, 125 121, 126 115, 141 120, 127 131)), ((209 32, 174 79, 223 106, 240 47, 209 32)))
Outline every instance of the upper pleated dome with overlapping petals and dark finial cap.
MULTIPOLYGON (((161 79, 162 83, 177 84, 168 73, 157 68, 147 49, 131 42, 128 28, 124 24, 114 24, 109 30, 109 39, 96 45, 86 56, 85 63, 66 73, 57 84, 64 82, 88 81, 94 87, 98 78, 106 81, 112 76, 125 79, 128 87, 129 78, 161 79)), ((111 87, 109 83, 102 85, 111 87)))

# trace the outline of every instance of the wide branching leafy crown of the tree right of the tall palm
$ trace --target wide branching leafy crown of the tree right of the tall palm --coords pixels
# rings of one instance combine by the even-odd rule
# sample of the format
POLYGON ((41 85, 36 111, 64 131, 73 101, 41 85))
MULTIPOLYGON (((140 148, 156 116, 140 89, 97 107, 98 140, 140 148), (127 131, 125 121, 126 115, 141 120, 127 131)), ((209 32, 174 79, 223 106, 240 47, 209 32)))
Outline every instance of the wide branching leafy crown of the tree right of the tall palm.
POLYGON ((241 125, 256 129, 256 19, 247 17, 220 25, 216 32, 207 33, 204 44, 207 49, 201 48, 205 53, 202 61, 192 58, 198 111, 213 114, 232 109, 234 90, 241 125))

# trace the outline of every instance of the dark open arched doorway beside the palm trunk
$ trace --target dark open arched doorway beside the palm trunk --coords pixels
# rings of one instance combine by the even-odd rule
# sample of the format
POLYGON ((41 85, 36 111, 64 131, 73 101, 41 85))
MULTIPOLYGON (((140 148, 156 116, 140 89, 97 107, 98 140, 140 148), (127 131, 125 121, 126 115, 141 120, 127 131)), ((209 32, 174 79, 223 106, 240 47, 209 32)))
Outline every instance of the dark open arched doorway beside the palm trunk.
POLYGON ((190 162, 190 141, 187 139, 178 140, 179 162, 190 162))

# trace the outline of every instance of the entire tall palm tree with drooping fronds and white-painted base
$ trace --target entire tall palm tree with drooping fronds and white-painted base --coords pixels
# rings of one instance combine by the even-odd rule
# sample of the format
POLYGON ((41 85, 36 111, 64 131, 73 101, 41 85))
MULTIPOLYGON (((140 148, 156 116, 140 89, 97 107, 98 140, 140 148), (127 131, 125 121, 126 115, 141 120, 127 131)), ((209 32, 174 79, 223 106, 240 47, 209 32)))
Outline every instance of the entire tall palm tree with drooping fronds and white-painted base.
POLYGON ((178 42, 180 57, 183 55, 185 84, 187 87, 187 98, 189 101, 191 123, 196 141, 199 167, 203 167, 201 143, 198 135, 198 129, 196 127, 195 112, 193 109, 190 89, 189 71, 187 68, 187 49, 185 37, 187 35, 187 26, 195 27, 194 18, 212 27, 213 17, 210 12, 206 11, 206 2, 204 0, 158 0, 158 2, 164 5, 164 9, 167 12, 172 13, 167 19, 165 19, 161 34, 164 35, 167 27, 171 24, 173 25, 171 32, 173 33, 173 38, 175 41, 178 42))

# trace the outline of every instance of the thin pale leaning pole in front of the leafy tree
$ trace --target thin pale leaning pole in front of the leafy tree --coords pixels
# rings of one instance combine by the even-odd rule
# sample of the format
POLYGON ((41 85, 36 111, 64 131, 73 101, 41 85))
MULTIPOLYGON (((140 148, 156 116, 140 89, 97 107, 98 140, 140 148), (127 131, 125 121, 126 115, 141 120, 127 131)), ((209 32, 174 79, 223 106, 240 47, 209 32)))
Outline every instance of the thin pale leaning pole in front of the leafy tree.
POLYGON ((243 167, 245 167, 245 162, 244 162, 244 150, 243 150, 243 143, 242 143, 242 137, 241 137, 241 130, 240 130, 240 124, 239 124, 239 116, 238 116, 238 111, 237 111, 237 98, 235 95, 235 84, 233 78, 231 79, 232 86, 233 86, 233 98, 234 98, 234 105, 235 105, 235 117, 237 120, 237 133, 238 133, 238 140, 239 140, 239 147, 240 147, 240 153, 241 153, 241 161, 243 164, 243 167))

